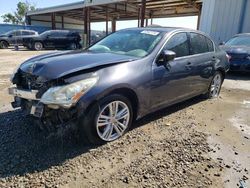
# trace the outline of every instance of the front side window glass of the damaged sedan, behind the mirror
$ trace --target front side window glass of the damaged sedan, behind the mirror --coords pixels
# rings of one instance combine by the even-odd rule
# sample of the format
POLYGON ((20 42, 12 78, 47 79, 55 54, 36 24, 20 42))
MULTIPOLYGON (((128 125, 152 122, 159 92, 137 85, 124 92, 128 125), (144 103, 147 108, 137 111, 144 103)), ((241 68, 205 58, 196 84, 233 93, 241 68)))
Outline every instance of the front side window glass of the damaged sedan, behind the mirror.
POLYGON ((189 44, 186 33, 177 33, 167 42, 164 50, 171 50, 176 53, 176 57, 189 55, 189 44))

